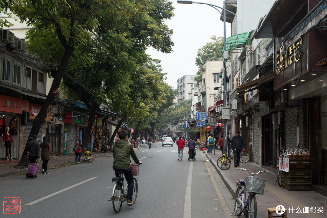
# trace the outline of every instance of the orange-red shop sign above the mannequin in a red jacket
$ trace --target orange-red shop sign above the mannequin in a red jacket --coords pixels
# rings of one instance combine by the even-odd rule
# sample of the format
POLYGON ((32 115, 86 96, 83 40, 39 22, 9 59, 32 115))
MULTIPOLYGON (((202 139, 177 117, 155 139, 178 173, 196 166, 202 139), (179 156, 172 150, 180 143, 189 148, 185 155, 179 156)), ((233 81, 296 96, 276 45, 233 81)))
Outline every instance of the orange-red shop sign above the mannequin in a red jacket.
POLYGON ((13 98, 6 95, 0 95, 0 111, 10 113, 22 113, 23 110, 28 111, 28 101, 13 98))

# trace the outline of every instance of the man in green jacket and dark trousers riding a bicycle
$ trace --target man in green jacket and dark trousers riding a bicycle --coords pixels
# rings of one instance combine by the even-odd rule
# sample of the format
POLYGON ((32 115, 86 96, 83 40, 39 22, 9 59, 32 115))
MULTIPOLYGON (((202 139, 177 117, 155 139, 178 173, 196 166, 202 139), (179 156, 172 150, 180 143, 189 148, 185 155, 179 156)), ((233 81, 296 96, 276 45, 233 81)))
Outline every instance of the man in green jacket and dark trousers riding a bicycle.
POLYGON ((125 130, 122 130, 118 133, 119 141, 116 142, 113 146, 113 163, 112 169, 115 171, 116 177, 119 176, 119 171, 124 172, 125 179, 127 181, 127 205, 135 205, 133 202, 133 188, 134 188, 134 179, 132 168, 130 167, 130 157, 137 164, 142 164, 141 161, 137 158, 135 151, 131 144, 128 141, 128 133, 125 130))

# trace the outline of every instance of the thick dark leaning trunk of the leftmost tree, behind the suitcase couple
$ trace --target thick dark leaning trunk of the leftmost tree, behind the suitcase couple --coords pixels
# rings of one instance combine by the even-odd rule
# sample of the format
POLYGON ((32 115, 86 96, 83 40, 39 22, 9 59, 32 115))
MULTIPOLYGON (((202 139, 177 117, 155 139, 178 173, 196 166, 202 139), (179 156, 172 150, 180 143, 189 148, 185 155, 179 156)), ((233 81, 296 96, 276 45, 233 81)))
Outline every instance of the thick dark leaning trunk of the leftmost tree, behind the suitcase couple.
MULTIPOLYGON (((74 48, 66 47, 65 53, 64 53, 63 58, 60 63, 60 66, 59 66, 58 70, 56 71, 56 73, 54 74, 55 76, 53 77, 53 82, 52 82, 50 91, 43 103, 42 108, 40 109, 40 112, 38 113, 38 115, 35 117, 35 119, 33 121, 33 126, 31 128, 28 138, 33 137, 33 135, 37 136, 39 134, 40 128, 41 128, 45 118, 48 115, 48 112, 51 108, 53 101, 55 100, 59 85, 61 83, 61 79, 62 79, 63 75, 65 74, 65 71, 66 71, 66 68, 68 65, 68 61, 69 61, 73 51, 74 51, 74 48)), ((40 137, 42 137, 42 136, 38 136, 38 139, 40 139, 40 137)), ((42 139, 40 141, 42 141, 42 139)), ((28 142, 28 140, 27 140, 27 142, 28 142)), ((29 163, 29 161, 22 154, 21 159, 20 159, 19 163, 17 164, 17 166, 28 166, 28 163, 29 163)))

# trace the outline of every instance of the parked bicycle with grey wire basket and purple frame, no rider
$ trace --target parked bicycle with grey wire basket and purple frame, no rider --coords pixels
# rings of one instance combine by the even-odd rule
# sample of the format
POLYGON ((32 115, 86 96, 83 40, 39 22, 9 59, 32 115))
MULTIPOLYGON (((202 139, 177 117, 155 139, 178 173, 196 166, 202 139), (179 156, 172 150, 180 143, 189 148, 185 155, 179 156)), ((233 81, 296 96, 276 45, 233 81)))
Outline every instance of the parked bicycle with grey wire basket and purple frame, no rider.
MULTIPOLYGON (((237 168, 237 170, 248 171, 244 168, 237 168)), ((264 194, 266 180, 255 177, 255 175, 268 170, 248 171, 250 176, 236 181, 235 187, 235 206, 232 215, 240 216, 242 213, 249 218, 257 217, 257 194, 264 194)))

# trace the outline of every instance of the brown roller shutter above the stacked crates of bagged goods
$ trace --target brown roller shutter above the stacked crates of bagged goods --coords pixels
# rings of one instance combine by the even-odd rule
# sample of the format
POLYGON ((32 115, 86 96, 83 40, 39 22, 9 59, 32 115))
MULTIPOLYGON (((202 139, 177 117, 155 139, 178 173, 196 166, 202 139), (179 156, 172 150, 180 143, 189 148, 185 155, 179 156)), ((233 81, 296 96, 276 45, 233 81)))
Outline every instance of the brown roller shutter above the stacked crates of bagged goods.
POLYGON ((298 126, 298 108, 285 111, 285 148, 295 148, 297 145, 296 127, 298 126))

